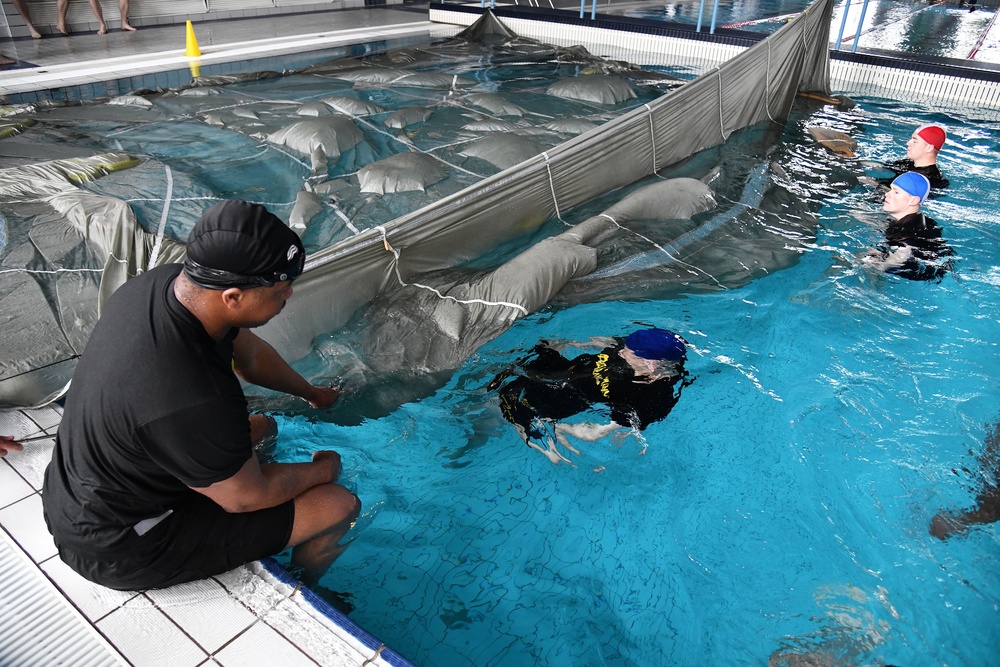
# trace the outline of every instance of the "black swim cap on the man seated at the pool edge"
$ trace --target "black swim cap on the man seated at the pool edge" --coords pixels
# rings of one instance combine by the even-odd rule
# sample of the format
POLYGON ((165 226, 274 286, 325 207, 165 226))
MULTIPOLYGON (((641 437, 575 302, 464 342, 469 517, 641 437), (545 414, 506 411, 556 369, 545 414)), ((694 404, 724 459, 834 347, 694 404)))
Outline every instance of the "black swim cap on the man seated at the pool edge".
POLYGON ((302 273, 299 235, 260 204, 230 199, 205 210, 191 230, 184 274, 200 287, 270 287, 302 273))

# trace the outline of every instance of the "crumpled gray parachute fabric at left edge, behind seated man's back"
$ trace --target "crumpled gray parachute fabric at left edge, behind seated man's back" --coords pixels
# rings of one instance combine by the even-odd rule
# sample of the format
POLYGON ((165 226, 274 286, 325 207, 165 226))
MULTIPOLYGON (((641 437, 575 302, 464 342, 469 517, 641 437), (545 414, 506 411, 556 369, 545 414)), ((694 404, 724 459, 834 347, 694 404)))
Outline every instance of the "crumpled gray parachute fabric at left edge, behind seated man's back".
POLYGON ((128 204, 76 185, 135 164, 99 155, 0 170, 5 214, 31 221, 0 247, 0 407, 61 396, 107 298, 183 257, 182 245, 144 232, 128 204))

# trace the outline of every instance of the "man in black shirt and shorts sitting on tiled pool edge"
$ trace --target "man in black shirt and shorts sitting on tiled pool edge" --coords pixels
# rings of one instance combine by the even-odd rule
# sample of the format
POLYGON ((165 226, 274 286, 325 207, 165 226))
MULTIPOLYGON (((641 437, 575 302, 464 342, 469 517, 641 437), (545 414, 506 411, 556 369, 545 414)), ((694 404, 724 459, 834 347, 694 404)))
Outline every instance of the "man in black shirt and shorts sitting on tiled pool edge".
POLYGON ((257 337, 304 265, 302 242, 263 206, 206 210, 182 265, 133 278, 109 300, 73 376, 52 462, 45 521, 60 557, 120 590, 225 572, 288 547, 318 576, 360 502, 340 456, 261 464, 239 377, 314 407, 339 392, 309 384, 257 337))

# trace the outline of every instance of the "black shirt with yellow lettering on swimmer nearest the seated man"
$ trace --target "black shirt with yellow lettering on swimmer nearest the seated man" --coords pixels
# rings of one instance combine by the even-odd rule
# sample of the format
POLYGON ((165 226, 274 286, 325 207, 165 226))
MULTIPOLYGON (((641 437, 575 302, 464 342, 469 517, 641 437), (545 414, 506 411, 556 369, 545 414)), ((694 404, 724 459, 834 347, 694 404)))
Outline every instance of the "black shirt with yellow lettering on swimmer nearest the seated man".
POLYGON ((545 433, 536 419, 560 420, 603 403, 611 418, 622 426, 645 429, 668 414, 687 384, 687 374, 655 382, 636 382, 636 374, 618 356, 622 345, 598 354, 567 359, 545 345, 536 345, 532 355, 516 369, 501 373, 490 389, 499 389, 500 407, 512 424, 524 428, 529 438, 545 433))

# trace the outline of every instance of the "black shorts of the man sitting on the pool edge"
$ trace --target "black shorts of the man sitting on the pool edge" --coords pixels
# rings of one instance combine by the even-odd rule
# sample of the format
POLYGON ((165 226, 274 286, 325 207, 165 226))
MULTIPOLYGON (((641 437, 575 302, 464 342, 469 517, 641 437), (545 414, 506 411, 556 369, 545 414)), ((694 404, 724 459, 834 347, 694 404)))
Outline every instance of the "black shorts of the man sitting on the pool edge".
POLYGON ((221 574, 282 551, 292 535, 295 504, 229 513, 200 493, 174 508, 141 537, 130 532, 117 554, 59 555, 87 579, 118 590, 165 588, 221 574))

